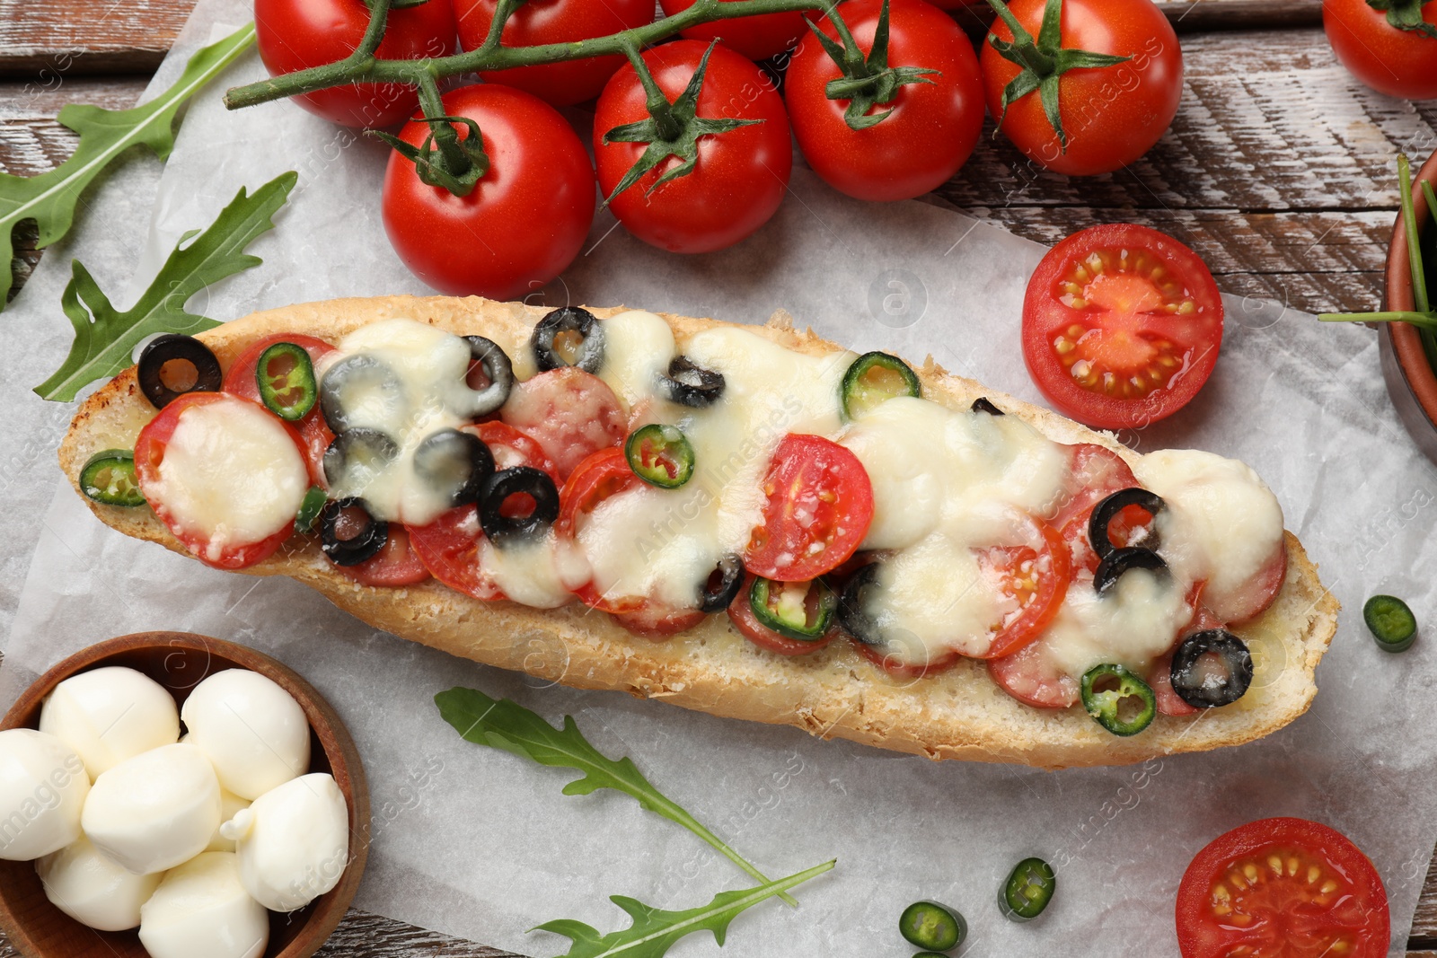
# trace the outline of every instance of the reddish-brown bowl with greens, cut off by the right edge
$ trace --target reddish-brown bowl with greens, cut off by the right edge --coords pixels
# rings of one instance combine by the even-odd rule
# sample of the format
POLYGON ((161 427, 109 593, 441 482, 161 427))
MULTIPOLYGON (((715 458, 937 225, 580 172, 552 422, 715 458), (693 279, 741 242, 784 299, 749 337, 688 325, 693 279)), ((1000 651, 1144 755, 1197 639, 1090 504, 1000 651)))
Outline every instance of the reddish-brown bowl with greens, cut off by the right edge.
MULTIPOLYGON (((1427 165, 1418 174, 1418 182, 1426 180, 1437 187, 1437 154, 1433 154, 1427 165)), ((1437 292, 1437 243, 1431 240, 1433 227, 1427 224, 1431 211, 1421 194, 1421 188, 1413 184, 1417 203, 1417 228, 1424 236, 1423 250, 1427 253, 1427 286, 1437 292)), ((1397 217, 1397 228, 1392 231, 1392 244, 1387 251, 1387 294, 1384 309, 1410 310, 1415 309, 1413 296, 1411 259, 1407 254, 1407 230, 1401 215, 1397 217)), ((1382 355, 1382 378, 1387 379, 1387 391, 1392 396, 1392 405, 1401 417, 1407 431, 1413 435, 1418 448, 1427 458, 1437 462, 1437 375, 1433 373, 1431 363, 1423 352, 1421 336, 1415 326, 1407 323, 1381 323, 1380 345, 1382 355)))

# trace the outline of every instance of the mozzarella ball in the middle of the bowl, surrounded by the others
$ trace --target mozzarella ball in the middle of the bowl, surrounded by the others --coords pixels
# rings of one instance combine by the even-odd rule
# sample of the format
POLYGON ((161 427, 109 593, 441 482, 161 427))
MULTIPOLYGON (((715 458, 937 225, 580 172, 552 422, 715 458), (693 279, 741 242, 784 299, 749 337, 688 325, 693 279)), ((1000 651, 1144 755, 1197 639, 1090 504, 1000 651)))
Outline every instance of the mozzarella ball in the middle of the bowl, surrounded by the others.
POLYGON ((91 842, 135 875, 188 862, 220 824, 220 781, 194 745, 165 745, 99 778, 80 819, 91 842))

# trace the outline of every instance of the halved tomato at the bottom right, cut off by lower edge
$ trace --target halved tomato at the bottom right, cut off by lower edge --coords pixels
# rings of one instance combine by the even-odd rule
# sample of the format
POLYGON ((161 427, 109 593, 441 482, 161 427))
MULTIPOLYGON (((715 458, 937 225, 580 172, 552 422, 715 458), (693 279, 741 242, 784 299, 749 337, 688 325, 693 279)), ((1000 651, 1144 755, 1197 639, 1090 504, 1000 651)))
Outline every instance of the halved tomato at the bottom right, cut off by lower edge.
POLYGON ((1380 958, 1391 916, 1372 862, 1341 832, 1262 819, 1213 839, 1177 889, 1183 958, 1380 958))

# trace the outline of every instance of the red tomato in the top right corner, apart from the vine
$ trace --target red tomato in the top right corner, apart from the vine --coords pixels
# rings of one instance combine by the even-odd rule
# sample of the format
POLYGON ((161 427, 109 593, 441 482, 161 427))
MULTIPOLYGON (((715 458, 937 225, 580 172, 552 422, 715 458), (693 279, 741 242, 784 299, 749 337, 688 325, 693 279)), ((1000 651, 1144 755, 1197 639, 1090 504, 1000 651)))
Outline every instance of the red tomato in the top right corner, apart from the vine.
MULTIPOLYGON (((1421 10, 1423 22, 1437 30, 1437 0, 1421 10)), ((1367 0, 1322 0, 1322 26, 1342 66, 1377 92, 1437 99, 1437 37, 1398 30, 1367 0)))

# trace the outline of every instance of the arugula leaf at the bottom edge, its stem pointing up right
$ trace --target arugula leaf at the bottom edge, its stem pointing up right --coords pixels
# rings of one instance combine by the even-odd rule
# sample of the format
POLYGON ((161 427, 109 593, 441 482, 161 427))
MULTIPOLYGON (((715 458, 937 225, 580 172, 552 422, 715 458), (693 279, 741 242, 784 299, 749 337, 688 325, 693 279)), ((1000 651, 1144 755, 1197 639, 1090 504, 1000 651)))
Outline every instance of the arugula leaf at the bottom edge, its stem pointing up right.
POLYGON ((714 941, 721 947, 724 935, 729 932, 729 922, 746 908, 822 875, 836 863, 836 859, 823 862, 806 872, 766 882, 759 888, 718 892, 707 905, 687 912, 668 912, 624 895, 614 895, 609 901, 628 912, 634 918, 634 924, 624 931, 612 931, 608 935, 601 935, 598 929, 572 918, 545 922, 530 931, 549 931, 570 939, 573 945, 560 958, 662 958, 674 942, 696 931, 711 931, 714 941))

